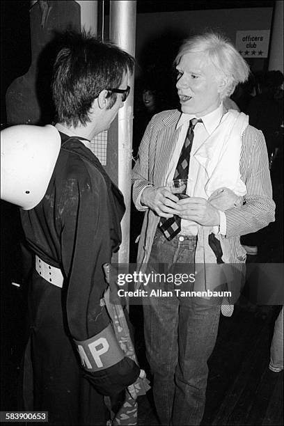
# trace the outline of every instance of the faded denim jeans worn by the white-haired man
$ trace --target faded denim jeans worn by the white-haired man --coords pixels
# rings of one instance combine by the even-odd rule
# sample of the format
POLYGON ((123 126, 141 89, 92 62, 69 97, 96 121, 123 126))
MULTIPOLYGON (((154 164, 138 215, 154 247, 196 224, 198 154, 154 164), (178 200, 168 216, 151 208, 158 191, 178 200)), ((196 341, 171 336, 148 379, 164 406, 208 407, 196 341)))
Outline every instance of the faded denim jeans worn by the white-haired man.
MULTIPOLYGON (((173 271, 180 263, 187 264, 192 273, 195 250, 196 237, 184 237, 182 241, 177 235, 168 242, 158 229, 148 271, 173 271)), ((175 287, 164 285, 167 290, 175 287)), ((187 290, 193 290, 193 284, 187 290)), ((161 425, 200 424, 205 408, 207 360, 216 342, 220 308, 220 298, 180 297, 175 292, 173 297, 149 297, 144 304, 146 355, 161 425)))

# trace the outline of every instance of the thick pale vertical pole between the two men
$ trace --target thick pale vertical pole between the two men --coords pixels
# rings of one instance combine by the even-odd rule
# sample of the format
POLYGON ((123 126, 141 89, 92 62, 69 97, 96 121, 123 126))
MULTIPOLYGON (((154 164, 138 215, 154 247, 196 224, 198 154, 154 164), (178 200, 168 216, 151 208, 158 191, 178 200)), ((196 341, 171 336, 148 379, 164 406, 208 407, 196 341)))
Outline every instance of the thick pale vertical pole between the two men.
MULTIPOLYGON (((135 54, 136 1, 113 0, 109 11, 109 38, 132 56, 135 54)), ((118 111, 118 187, 125 198, 126 212, 121 223, 123 242, 118 251, 118 263, 129 260, 129 228, 132 168, 132 125, 134 101, 134 75, 124 107, 118 111)))

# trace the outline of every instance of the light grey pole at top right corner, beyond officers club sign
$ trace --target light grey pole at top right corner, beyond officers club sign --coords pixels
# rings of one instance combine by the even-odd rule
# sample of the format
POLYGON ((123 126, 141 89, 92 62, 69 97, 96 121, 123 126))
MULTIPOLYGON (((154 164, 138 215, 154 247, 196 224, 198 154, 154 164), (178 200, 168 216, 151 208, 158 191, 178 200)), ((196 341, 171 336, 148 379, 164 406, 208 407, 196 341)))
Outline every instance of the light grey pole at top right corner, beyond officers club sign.
POLYGON ((274 1, 268 69, 283 72, 283 0, 274 1))

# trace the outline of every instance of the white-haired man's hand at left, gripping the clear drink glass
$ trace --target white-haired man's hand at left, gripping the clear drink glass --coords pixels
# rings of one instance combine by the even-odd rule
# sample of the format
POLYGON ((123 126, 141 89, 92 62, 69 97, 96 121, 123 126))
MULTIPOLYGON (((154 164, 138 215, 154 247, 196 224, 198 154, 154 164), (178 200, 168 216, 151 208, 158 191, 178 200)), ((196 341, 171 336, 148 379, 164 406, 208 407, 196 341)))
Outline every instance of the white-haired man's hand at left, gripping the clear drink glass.
POLYGON ((173 217, 178 214, 176 202, 178 197, 173 195, 168 187, 147 187, 141 195, 141 204, 150 207, 161 217, 173 217))

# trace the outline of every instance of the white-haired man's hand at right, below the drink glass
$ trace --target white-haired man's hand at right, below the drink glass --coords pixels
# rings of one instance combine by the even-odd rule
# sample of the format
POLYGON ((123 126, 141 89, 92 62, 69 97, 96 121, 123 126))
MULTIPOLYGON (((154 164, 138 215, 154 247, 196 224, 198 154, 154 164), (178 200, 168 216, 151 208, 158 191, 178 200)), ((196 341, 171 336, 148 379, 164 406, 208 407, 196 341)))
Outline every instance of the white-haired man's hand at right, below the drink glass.
POLYGON ((205 198, 189 197, 177 203, 178 216, 182 219, 194 221, 203 226, 219 226, 220 215, 216 207, 205 198))

